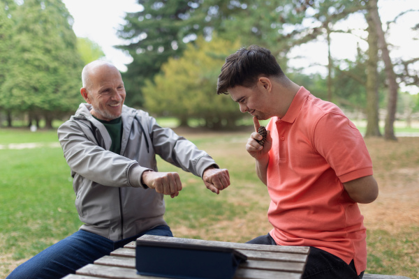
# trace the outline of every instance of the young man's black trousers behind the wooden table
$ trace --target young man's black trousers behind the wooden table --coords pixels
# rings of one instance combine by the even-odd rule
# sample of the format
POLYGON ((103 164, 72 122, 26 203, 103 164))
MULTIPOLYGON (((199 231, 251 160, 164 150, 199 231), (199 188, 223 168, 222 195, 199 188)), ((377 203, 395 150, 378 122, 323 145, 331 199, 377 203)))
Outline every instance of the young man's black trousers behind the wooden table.
MULTIPOLYGON (((270 234, 258 236, 247 243, 277 245, 270 234)), ((364 271, 358 276, 353 260, 350 264, 346 264, 343 259, 329 252, 310 247, 302 279, 362 279, 362 276, 364 276, 364 271)))

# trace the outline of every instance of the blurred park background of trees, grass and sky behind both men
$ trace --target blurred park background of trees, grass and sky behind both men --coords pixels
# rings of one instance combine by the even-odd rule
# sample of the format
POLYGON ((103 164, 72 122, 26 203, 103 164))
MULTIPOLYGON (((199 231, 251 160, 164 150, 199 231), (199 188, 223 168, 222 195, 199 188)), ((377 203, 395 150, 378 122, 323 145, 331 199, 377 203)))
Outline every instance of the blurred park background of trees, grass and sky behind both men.
POLYGON ((419 278, 419 1, 119 2, 0 0, 0 277, 80 227, 57 127, 82 102, 80 73, 95 59, 122 71, 127 105, 230 171, 218 196, 179 171, 184 190, 166 199, 175 236, 266 234, 269 197, 244 150, 251 119, 215 93, 225 57, 258 44, 365 135, 380 186, 360 205, 367 272, 419 278))

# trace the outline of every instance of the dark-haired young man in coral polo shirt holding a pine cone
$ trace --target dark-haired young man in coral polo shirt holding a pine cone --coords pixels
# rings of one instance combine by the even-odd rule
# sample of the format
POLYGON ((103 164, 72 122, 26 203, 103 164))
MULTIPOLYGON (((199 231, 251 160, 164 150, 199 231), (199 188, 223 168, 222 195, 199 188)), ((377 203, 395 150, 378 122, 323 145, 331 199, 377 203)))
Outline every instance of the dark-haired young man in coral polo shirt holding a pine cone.
POLYGON ((249 243, 309 246, 302 278, 362 278, 366 229, 359 203, 378 186, 362 135, 343 112, 288 79, 269 50, 251 46, 227 57, 217 93, 241 112, 270 119, 263 146, 252 133, 246 150, 271 197, 273 229, 249 243))

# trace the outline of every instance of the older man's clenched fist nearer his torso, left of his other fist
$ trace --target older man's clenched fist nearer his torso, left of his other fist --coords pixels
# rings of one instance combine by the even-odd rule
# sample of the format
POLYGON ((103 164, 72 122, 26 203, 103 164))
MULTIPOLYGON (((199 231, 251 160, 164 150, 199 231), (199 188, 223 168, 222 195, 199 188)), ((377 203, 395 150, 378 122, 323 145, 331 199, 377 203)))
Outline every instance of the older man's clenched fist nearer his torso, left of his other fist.
POLYGON ((149 188, 155 189, 157 193, 177 197, 182 190, 182 183, 177 172, 151 172, 142 173, 142 183, 149 188))

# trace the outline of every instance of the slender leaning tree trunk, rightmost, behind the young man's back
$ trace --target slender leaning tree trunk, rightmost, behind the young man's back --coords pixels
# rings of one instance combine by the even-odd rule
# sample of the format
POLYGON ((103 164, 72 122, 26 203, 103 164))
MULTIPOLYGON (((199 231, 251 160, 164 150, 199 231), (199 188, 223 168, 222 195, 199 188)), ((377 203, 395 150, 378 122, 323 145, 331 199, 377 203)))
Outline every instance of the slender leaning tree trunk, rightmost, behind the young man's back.
POLYGON ((397 110, 397 89, 399 85, 396 81, 395 71, 393 70, 392 61, 388 52, 388 46, 385 42, 383 26, 381 24, 380 15, 378 14, 377 0, 369 0, 369 14, 376 26, 378 36, 378 45, 381 48, 381 56, 385 65, 385 77, 388 83, 388 103, 387 116, 385 117, 384 138, 385 140, 397 140, 395 136, 394 123, 397 110))

